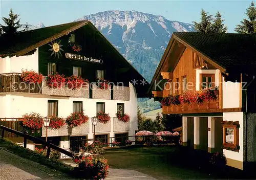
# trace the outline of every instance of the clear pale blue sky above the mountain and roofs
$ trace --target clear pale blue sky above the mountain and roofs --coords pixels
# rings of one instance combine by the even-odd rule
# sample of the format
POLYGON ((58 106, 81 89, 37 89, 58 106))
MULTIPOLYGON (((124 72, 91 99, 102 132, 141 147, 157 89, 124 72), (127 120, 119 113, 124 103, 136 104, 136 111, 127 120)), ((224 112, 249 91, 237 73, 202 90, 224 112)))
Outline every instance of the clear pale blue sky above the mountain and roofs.
MULTIPOLYGON (((220 11, 228 32, 246 18, 244 12, 251 1, 3 1, 0 0, 0 16, 6 17, 11 8, 20 14, 20 22, 36 25, 43 22, 52 26, 73 21, 83 15, 107 10, 136 10, 162 15, 169 20, 191 23, 199 21, 203 8, 210 14, 220 11)), ((1 21, 2 23, 2 21, 1 21)))

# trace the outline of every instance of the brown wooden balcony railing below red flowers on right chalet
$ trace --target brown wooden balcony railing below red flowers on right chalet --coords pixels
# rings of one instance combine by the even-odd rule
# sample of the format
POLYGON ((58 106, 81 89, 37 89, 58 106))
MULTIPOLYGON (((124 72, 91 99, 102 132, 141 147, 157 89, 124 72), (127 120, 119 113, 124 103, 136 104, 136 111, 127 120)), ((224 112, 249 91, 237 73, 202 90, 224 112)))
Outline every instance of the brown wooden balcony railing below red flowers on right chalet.
POLYGON ((181 103, 180 105, 163 106, 163 114, 191 114, 191 113, 220 113, 219 107, 219 91, 215 91, 217 94, 216 100, 210 100, 202 103, 181 103))

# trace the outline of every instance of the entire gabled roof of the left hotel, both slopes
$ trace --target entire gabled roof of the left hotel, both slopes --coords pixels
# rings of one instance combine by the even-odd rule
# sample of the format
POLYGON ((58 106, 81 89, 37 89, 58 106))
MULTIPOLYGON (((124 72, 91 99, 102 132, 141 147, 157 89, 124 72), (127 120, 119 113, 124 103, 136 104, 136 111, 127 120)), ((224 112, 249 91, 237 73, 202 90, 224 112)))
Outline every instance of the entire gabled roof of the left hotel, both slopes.
MULTIPOLYGON (((142 75, 113 47, 98 29, 88 20, 70 22, 67 24, 56 25, 46 28, 40 28, 31 31, 17 32, 10 40, 10 36, 0 36, 0 57, 7 56, 22 56, 26 53, 33 51, 34 49, 43 46, 61 36, 67 35, 72 31, 75 31, 83 26, 90 26, 100 37, 112 48, 114 53, 120 57, 121 62, 124 64, 126 69, 130 70, 129 78, 130 82, 137 80, 134 84, 138 97, 148 97, 146 94, 149 87, 149 83, 142 77, 142 75), (141 83, 140 82, 144 82, 141 83)), ((124 68, 124 69, 125 69, 124 68)))

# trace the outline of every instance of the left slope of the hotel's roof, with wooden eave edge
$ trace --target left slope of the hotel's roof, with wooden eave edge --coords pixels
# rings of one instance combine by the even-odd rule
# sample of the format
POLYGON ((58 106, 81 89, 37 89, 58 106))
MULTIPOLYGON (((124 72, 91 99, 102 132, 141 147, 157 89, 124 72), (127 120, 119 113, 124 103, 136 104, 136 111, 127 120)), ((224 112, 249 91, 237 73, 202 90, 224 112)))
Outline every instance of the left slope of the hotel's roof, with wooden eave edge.
POLYGON ((22 56, 88 23, 88 20, 82 20, 31 31, 16 32, 11 40, 7 35, 2 35, 0 36, 0 57, 22 56))

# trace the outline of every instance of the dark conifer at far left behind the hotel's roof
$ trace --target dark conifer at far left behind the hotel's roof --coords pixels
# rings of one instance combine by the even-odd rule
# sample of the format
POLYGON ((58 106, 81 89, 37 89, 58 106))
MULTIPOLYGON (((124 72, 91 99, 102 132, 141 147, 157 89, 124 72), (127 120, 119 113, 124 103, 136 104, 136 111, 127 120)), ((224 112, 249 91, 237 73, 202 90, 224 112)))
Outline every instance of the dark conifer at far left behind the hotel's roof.
POLYGON ((3 29, 4 33, 15 33, 17 29, 21 27, 18 16, 19 15, 17 14, 13 14, 11 9, 8 18, 2 17, 2 20, 5 22, 5 26, 0 24, 0 27, 3 29))

